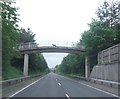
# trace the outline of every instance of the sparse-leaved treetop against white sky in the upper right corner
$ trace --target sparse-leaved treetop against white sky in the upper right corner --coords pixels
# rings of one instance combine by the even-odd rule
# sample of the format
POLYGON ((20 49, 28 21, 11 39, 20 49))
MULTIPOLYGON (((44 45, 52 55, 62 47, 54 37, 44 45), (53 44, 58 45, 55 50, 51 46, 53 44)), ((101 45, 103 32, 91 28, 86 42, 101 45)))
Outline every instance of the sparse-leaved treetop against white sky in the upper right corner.
POLYGON ((113 27, 118 24, 120 20, 120 4, 118 1, 112 0, 111 2, 107 2, 105 0, 103 4, 98 7, 96 14, 98 20, 104 22, 109 27, 113 27))

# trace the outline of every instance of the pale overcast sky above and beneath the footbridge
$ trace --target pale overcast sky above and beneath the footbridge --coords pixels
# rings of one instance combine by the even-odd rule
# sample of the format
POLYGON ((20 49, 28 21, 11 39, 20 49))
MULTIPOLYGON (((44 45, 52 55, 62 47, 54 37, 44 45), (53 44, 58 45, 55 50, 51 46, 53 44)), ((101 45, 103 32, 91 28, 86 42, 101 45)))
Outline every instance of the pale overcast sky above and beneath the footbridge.
MULTIPOLYGON (((36 42, 78 42, 103 0, 16 0, 21 22, 36 34, 36 42)), ((43 53, 50 68, 67 53, 43 53)))

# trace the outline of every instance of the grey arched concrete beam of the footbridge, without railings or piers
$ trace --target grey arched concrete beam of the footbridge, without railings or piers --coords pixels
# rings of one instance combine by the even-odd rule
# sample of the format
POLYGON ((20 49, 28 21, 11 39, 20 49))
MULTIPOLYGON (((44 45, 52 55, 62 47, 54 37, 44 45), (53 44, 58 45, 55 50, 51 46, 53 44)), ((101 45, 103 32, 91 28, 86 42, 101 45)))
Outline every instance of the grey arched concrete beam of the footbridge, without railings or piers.
POLYGON ((38 47, 38 48, 31 48, 31 49, 21 49, 19 51, 22 54, 50 53, 50 52, 79 54, 81 52, 85 52, 83 49, 76 49, 71 47, 38 47))

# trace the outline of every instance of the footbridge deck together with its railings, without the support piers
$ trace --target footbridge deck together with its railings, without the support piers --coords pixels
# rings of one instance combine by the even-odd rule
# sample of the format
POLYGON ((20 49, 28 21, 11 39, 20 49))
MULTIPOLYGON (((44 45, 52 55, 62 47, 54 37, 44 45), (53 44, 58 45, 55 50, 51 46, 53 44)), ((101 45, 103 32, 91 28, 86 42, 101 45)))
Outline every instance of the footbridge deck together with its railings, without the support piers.
POLYGON ((58 53, 74 53, 78 54, 85 52, 83 47, 77 47, 74 42, 63 42, 63 41, 47 41, 47 42, 26 42, 20 43, 17 46, 17 50, 22 54, 26 53, 49 53, 49 52, 58 52, 58 53))

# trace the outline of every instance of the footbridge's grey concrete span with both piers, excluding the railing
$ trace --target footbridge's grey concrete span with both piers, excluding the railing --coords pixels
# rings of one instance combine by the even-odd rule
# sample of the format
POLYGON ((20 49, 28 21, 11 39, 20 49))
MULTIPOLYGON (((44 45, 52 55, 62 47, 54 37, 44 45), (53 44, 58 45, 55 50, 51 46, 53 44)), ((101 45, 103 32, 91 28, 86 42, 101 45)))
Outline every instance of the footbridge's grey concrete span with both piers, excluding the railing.
MULTIPOLYGON (((85 50, 83 48, 75 48, 75 47, 63 47, 63 46, 19 46, 18 51, 21 52, 21 54, 24 54, 24 76, 28 76, 28 64, 29 64, 29 54, 30 53, 73 53, 73 54, 81 54, 84 53, 85 50)), ((89 75, 89 66, 87 64, 87 58, 85 60, 85 73, 86 78, 89 75)))

